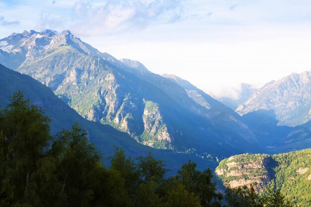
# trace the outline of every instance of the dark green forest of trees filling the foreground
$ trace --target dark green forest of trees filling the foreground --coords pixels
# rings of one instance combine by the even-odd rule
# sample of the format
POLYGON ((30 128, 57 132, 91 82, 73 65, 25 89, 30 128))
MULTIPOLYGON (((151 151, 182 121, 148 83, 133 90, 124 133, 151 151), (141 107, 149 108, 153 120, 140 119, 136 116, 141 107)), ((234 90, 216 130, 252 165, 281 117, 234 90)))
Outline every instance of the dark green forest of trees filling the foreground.
POLYGON ((22 92, 1 109, 0 207, 293 206, 274 188, 218 193, 212 171, 190 160, 171 177, 151 153, 133 159, 116 146, 103 160, 78 123, 52 136, 50 122, 22 92))

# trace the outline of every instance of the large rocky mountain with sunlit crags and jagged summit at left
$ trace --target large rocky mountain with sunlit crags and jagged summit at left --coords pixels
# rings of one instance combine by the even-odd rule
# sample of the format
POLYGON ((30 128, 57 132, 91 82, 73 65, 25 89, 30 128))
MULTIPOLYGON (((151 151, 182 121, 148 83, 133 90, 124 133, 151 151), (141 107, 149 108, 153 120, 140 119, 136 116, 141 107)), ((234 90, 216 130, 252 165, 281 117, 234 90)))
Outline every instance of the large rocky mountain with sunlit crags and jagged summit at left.
POLYGON ((13 33, 0 50, 0 63, 49 86, 82 117, 145 145, 202 157, 260 150, 240 116, 203 91, 100 53, 68 30, 13 33))

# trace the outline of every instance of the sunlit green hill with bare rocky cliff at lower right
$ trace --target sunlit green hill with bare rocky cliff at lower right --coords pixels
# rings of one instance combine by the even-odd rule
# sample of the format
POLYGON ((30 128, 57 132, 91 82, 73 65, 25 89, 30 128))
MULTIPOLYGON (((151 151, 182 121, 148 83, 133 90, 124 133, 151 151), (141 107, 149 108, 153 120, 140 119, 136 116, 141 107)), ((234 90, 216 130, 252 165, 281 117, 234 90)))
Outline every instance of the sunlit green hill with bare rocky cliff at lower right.
POLYGON ((240 154, 220 162, 216 174, 230 187, 257 183, 257 189, 276 187, 295 202, 311 204, 311 149, 283 154, 240 154))

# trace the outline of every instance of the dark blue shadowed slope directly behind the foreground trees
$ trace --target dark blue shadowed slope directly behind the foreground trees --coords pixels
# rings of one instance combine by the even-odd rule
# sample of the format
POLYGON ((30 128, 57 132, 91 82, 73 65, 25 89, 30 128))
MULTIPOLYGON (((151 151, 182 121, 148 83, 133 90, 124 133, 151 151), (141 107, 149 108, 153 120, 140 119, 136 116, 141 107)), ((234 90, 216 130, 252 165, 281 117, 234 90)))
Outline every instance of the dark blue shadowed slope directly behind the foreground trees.
POLYGON ((126 153, 132 157, 145 156, 149 151, 157 159, 164 160, 167 167, 175 173, 182 163, 188 159, 198 163, 200 169, 210 167, 215 169, 217 162, 215 157, 199 157, 194 153, 176 153, 169 150, 154 149, 142 145, 128 136, 115 130, 109 125, 102 125, 82 118, 78 113, 58 98, 47 86, 41 84, 32 77, 19 72, 7 69, 0 65, 0 108, 9 103, 9 96, 15 91, 23 91, 26 98, 45 110, 46 115, 51 116, 52 134, 62 130, 69 129, 74 123, 78 122, 87 129, 89 139, 95 146, 104 153, 104 157, 112 155, 113 145, 123 147, 126 153))

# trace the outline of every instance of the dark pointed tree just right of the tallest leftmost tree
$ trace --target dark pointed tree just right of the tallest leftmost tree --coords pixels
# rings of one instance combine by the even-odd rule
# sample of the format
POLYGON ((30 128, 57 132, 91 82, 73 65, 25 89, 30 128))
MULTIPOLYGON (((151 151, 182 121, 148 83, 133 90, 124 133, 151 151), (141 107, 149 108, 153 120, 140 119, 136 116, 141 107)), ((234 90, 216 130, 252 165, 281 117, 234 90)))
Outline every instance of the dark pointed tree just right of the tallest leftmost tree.
POLYGON ((51 155, 57 159, 62 187, 60 206, 87 207, 93 199, 93 174, 101 156, 78 123, 56 135, 51 155))

